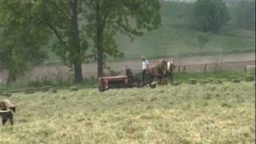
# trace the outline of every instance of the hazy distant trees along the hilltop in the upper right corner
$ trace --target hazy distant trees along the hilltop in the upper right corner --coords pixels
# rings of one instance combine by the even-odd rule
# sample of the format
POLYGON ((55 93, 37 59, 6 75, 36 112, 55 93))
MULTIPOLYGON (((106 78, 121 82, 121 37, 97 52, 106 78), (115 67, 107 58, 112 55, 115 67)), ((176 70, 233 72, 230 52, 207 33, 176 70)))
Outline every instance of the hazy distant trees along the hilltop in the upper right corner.
POLYGON ((194 26, 204 32, 230 26, 255 30, 255 0, 198 0, 194 4, 194 26))

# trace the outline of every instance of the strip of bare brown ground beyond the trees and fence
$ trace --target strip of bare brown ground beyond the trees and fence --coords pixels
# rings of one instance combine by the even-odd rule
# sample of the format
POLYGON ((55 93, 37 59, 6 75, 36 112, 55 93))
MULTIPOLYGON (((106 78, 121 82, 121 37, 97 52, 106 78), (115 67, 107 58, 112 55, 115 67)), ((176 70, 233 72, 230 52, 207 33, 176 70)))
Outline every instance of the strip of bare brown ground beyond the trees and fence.
MULTIPOLYGON (((188 72, 201 72, 203 66, 207 65, 207 69, 213 70, 215 64, 224 63, 223 67, 227 70, 242 70, 246 65, 255 64, 255 54, 227 54, 227 55, 208 55, 208 56, 196 56, 190 58, 163 58, 166 60, 174 60, 176 66, 186 66, 188 72), (226 63, 226 65, 225 65, 226 63)), ((154 63, 154 59, 150 59, 150 64, 154 63)), ((134 73, 141 70, 141 61, 126 61, 126 62, 106 62, 107 66, 110 66, 111 70, 124 73, 126 66, 130 67, 134 73)), ((96 78, 97 64, 83 64, 82 65, 83 75, 85 78, 96 78)), ((69 69, 66 66, 37 66, 30 72, 27 72, 20 81, 43 81, 43 80, 54 80, 62 78, 66 80, 70 77, 69 69)), ((6 81, 6 73, 0 73, 0 82, 6 81)))

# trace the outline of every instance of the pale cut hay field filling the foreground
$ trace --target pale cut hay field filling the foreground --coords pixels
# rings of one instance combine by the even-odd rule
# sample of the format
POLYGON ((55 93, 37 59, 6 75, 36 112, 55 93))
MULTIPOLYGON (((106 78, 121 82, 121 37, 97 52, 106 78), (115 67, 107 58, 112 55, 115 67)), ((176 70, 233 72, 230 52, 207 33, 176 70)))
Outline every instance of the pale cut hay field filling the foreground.
POLYGON ((13 94, 0 143, 254 143, 254 94, 253 82, 13 94))

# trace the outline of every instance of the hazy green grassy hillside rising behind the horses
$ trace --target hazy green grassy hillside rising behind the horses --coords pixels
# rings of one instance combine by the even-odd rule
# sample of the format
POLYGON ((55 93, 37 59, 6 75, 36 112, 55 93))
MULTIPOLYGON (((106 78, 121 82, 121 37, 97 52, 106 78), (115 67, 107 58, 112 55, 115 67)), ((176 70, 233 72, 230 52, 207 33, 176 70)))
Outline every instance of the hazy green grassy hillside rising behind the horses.
POLYGON ((190 26, 193 6, 189 3, 162 2, 162 27, 146 33, 130 42, 128 38, 117 38, 119 49, 125 59, 171 57, 178 55, 202 55, 243 53, 255 50, 254 31, 239 30, 225 26, 218 34, 210 34, 210 42, 199 49, 200 32, 190 26))

